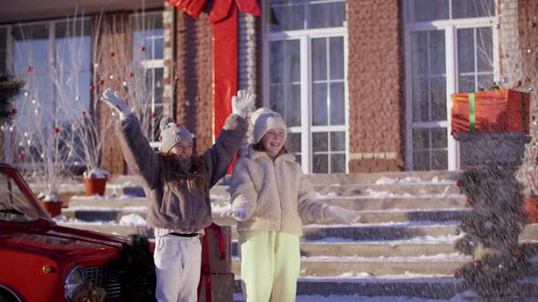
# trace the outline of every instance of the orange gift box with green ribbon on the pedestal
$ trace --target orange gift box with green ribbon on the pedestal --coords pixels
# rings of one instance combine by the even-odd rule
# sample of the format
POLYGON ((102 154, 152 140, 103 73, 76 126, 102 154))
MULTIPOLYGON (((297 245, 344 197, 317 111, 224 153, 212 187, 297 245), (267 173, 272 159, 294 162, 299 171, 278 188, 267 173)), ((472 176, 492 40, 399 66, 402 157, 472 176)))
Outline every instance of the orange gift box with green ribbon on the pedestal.
POLYGON ((512 89, 453 94, 451 132, 522 132, 529 134, 531 97, 512 89))

